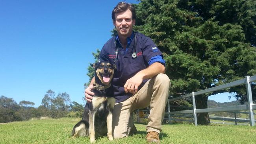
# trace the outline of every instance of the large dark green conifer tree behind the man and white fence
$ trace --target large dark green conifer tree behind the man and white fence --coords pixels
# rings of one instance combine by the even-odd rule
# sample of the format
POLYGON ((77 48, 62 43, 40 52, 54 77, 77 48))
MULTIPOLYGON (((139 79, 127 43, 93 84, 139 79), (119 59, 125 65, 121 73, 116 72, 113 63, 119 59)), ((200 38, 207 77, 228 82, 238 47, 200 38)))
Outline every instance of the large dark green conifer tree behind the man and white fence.
MULTIPOLYGON (((164 52, 171 97, 256 75, 253 0, 141 0, 136 7, 135 30, 164 52)), ((255 100, 255 83, 252 90, 255 100)), ((242 87, 228 92, 246 100, 242 87)), ((196 97, 197 109, 207 108, 209 95, 196 97)), ((208 113, 197 116, 198 124, 210 124, 208 113)))

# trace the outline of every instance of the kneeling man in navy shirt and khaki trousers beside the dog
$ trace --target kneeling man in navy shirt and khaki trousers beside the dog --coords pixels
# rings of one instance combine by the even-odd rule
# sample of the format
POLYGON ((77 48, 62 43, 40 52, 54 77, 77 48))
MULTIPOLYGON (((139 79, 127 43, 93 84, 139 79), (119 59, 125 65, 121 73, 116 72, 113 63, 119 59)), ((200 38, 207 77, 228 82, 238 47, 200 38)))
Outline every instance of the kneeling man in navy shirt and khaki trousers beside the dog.
MULTIPOLYGON (((147 141, 160 143, 159 133, 168 100, 170 79, 165 72, 165 61, 154 42, 145 35, 133 31, 135 8, 119 2, 112 11, 117 36, 104 44, 99 61, 115 63, 113 78, 116 103, 113 111, 114 138, 127 137, 135 128, 131 113, 135 109, 150 106, 147 141)), ((93 98, 93 78, 85 89, 85 99, 93 98)))

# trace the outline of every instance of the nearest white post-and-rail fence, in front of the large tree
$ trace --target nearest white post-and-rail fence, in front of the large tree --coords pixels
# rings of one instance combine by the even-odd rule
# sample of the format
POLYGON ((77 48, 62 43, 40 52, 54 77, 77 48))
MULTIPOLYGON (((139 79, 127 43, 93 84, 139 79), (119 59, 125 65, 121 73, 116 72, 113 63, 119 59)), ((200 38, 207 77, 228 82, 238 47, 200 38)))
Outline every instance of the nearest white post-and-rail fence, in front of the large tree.
POLYGON ((177 98, 172 98, 169 100, 169 102, 173 102, 175 100, 181 100, 183 98, 188 98, 192 97, 193 101, 193 110, 185 110, 185 111, 170 111, 170 103, 168 102, 168 119, 171 120, 171 114, 193 114, 195 126, 197 126, 197 113, 210 113, 210 112, 220 112, 220 111, 249 111, 249 122, 250 126, 255 125, 255 120, 254 120, 254 113, 253 110, 256 109, 256 104, 253 104, 252 102, 252 89, 250 87, 250 82, 256 81, 256 76, 246 76, 244 79, 240 79, 237 81, 233 81, 230 83, 226 83, 224 85, 219 85, 217 87, 212 87, 210 89, 205 89, 205 90, 200 90, 197 92, 192 92, 190 94, 186 94, 184 96, 180 96, 177 98), (207 109, 196 109, 196 104, 195 104, 195 96, 205 94, 207 92, 214 92, 217 90, 222 90, 222 89, 227 89, 230 87, 236 87, 238 85, 244 85, 246 86, 247 90, 247 100, 248 100, 248 105, 237 105, 237 106, 230 106, 230 107, 214 107, 214 108, 207 108, 207 109))

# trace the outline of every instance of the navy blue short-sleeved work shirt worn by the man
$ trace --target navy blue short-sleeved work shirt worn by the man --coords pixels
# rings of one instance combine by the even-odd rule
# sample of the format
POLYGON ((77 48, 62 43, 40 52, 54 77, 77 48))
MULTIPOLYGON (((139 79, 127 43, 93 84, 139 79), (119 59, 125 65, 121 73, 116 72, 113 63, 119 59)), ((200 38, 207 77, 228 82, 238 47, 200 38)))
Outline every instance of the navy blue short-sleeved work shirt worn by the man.
MULTIPOLYGON (((134 35, 134 33, 136 35, 136 58, 132 57, 135 43, 133 36, 131 36, 132 41, 125 51, 117 40, 117 36, 109 39, 100 51, 99 61, 107 61, 117 66, 117 70, 114 73, 112 82, 116 103, 123 102, 132 96, 132 93, 128 92, 126 94, 124 92, 124 84, 128 79, 137 74, 137 72, 147 68, 149 63, 154 63, 159 57, 161 57, 162 61, 158 62, 165 65, 163 54, 154 44, 152 39, 138 32, 133 32, 132 35, 134 35), (117 46, 118 57, 115 54, 115 42, 117 46), (153 59, 151 59, 152 57, 153 59)), ((143 80, 138 90, 141 89, 141 87, 143 87, 147 81, 148 79, 143 80)))

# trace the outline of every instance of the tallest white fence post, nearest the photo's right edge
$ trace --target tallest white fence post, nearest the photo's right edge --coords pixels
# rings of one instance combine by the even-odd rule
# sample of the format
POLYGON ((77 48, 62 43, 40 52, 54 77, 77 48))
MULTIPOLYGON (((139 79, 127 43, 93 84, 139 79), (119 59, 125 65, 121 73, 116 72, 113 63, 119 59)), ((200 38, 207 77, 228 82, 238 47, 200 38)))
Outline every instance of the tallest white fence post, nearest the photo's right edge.
POLYGON ((248 100, 248 110, 249 110, 249 117, 250 117, 250 126, 254 126, 254 114, 252 110, 252 89, 250 87, 250 76, 245 77, 245 84, 246 84, 246 92, 247 92, 247 100, 248 100))

